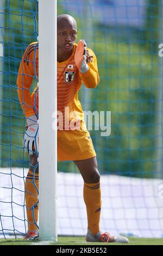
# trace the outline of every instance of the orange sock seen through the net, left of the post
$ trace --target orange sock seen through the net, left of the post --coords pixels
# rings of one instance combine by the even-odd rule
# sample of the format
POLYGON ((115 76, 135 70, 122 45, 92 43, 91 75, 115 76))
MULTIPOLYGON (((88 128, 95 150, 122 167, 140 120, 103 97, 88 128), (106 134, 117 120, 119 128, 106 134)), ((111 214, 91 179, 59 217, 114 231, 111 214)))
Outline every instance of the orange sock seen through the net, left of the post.
POLYGON ((39 214, 38 192, 39 190, 39 174, 29 170, 26 178, 26 208, 28 230, 38 230, 36 225, 39 214))

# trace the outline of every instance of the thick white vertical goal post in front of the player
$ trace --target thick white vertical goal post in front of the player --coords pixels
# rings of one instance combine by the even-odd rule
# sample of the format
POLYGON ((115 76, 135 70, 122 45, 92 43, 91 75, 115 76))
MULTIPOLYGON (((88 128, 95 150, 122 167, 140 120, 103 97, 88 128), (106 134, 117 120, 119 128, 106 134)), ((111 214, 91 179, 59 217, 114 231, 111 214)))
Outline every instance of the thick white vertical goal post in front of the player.
POLYGON ((39 0, 39 233, 41 241, 57 241, 56 128, 57 1, 39 0))

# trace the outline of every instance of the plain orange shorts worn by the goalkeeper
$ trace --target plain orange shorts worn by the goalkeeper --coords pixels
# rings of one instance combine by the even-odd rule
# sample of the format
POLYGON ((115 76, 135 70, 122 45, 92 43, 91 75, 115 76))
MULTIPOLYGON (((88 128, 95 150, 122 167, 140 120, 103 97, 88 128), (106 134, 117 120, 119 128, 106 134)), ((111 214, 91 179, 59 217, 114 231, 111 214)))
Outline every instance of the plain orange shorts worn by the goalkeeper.
POLYGON ((78 161, 96 156, 87 130, 57 132, 58 161, 78 161))

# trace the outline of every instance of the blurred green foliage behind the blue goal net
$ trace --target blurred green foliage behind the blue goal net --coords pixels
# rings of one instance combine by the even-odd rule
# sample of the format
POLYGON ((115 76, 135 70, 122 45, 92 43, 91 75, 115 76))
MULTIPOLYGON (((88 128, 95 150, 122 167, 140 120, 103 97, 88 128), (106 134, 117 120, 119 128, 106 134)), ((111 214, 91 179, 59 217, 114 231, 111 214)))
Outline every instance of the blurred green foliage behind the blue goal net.
MULTIPOLYGON (((79 99, 84 110, 111 111, 110 136, 102 137, 101 131, 90 131, 99 171, 154 178, 156 162, 162 161, 157 159, 156 144, 162 68, 158 57, 162 1, 146 1, 145 23, 140 28, 102 24, 89 7, 81 15, 80 9, 67 11, 65 2, 58 0, 58 15, 67 13, 77 19, 78 39, 88 39, 87 46, 98 60, 99 86, 91 92, 83 86, 79 99), (91 27, 89 34, 88 27, 91 27), (91 96, 85 97, 85 93, 91 96)), ((1 29, 4 47, 1 166, 28 167, 28 155, 22 147, 26 122, 17 97, 16 78, 24 50, 37 40, 37 1, 5 0, 1 15, 5 20, 1 29)), ((32 88, 35 84, 36 81, 32 88)), ((72 162, 58 163, 58 170, 77 172, 72 162)))

